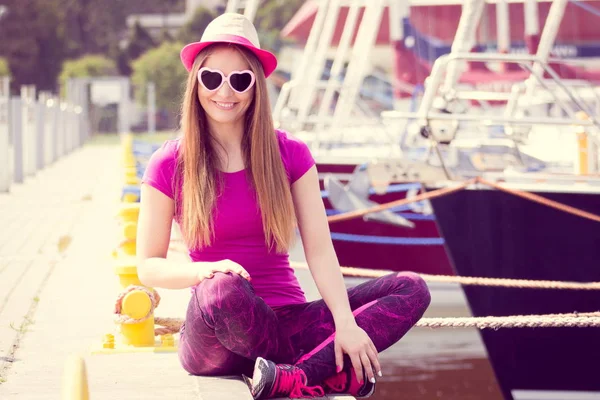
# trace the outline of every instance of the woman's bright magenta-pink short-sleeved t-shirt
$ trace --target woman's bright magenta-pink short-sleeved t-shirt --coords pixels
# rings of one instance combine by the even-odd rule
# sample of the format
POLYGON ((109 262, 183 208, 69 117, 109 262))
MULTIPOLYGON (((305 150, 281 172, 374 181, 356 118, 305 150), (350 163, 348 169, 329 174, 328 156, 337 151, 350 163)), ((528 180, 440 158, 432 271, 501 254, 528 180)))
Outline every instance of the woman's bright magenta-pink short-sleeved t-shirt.
MULTIPOLYGON (((304 175, 315 161, 303 142, 277 130, 279 149, 290 185, 304 175)), ((142 182, 175 199, 175 164, 180 139, 166 141, 150 158, 142 182)), ((214 241, 204 249, 190 249, 193 261, 230 259, 252 277, 256 294, 271 306, 303 303, 304 292, 290 267, 288 254, 270 252, 265 244, 260 208, 246 171, 222 172, 223 192, 215 205, 214 241)), ((181 190, 181 187, 178 188, 181 190)), ((180 222, 180 216, 175 216, 180 222)))

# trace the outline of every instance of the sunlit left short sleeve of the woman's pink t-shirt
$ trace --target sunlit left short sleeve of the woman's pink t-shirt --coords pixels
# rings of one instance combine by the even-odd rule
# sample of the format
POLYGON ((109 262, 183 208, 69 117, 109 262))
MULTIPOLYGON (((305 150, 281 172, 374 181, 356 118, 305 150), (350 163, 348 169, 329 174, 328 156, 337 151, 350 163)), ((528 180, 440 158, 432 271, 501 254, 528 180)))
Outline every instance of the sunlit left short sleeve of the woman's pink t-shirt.
POLYGON ((176 150, 177 143, 175 141, 166 141, 152 154, 142 176, 142 183, 152 186, 172 199, 175 198, 173 177, 177 162, 176 150))

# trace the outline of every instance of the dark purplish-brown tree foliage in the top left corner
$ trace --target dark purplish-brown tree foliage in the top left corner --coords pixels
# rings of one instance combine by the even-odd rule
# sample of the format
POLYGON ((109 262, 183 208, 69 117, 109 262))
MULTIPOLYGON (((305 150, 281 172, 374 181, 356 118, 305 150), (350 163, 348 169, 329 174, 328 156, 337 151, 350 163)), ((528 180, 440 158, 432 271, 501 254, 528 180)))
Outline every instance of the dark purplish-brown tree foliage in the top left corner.
POLYGON ((85 54, 116 58, 131 0, 0 0, 0 56, 13 90, 34 84, 56 90, 63 61, 85 54))

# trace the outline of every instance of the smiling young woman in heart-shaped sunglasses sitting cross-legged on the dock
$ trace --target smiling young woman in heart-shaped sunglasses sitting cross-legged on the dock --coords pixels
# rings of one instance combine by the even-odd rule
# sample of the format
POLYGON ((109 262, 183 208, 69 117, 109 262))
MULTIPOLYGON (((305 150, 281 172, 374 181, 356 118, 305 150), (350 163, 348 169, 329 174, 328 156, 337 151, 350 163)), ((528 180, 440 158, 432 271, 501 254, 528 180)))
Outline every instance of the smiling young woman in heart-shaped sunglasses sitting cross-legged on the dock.
POLYGON ((421 318, 427 286, 402 272, 346 291, 314 160, 273 127, 266 77, 277 61, 250 21, 221 15, 181 59, 183 135, 145 171, 137 254, 145 285, 192 288, 183 367, 251 375, 257 399, 370 395, 378 353, 421 318), (173 219, 189 263, 165 259, 173 219), (306 302, 290 267, 296 226, 323 300, 306 302))

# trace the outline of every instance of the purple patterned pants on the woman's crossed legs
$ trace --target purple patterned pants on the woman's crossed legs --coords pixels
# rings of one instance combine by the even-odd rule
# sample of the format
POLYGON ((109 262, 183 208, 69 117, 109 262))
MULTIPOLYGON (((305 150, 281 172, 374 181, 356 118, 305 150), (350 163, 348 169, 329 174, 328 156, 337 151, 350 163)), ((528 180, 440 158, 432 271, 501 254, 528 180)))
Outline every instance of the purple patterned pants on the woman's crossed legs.
MULTIPOLYGON (((400 272, 348 290, 356 322, 378 352, 396 343, 429 306, 427 285, 400 272)), ((295 364, 309 385, 335 375, 335 326, 323 300, 272 309, 238 275, 217 273, 190 300, 179 358, 192 375, 251 376, 254 360, 295 364)), ((350 365, 348 356, 344 366, 350 365)))

